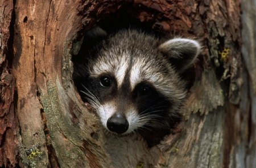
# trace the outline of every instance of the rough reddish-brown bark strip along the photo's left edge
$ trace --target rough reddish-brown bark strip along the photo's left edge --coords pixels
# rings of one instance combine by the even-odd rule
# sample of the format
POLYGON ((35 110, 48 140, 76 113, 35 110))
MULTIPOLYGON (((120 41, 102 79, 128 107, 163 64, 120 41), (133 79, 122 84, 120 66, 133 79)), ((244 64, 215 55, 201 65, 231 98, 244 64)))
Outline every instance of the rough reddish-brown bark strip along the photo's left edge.
POLYGON ((0 1, 0 167, 18 165, 18 118, 15 113, 15 80, 10 71, 13 3, 0 1))

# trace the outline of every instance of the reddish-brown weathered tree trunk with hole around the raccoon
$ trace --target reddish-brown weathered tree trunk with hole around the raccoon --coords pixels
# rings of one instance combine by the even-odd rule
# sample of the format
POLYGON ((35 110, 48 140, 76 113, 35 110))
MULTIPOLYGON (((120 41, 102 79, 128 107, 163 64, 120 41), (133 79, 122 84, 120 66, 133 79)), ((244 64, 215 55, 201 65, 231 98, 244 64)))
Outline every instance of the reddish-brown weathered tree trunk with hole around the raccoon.
POLYGON ((255 2, 242 16, 240 6, 1 0, 0 167, 255 167, 255 2), (141 135, 105 135, 72 81, 84 33, 130 23, 204 45, 184 121, 152 148, 141 135))

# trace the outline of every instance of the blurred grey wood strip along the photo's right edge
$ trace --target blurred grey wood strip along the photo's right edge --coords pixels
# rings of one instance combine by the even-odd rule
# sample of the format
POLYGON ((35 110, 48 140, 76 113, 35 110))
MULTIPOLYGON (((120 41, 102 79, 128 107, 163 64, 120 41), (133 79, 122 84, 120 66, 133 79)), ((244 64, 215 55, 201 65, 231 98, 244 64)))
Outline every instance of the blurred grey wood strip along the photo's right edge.
MULTIPOLYGON (((240 152, 237 156, 244 153, 244 163, 247 167, 256 165, 256 2, 253 0, 242 1, 242 57, 245 63, 245 72, 243 74, 244 95, 240 103, 243 122, 241 122, 241 132, 245 139, 240 140, 240 152), (247 73, 246 73, 247 72, 247 73), (247 93, 247 94, 246 94, 247 93), (247 100, 247 101, 246 101, 247 100), (246 113, 246 111, 250 111, 246 113), (246 129, 249 129, 246 132, 246 129), (242 148, 247 145, 247 148, 242 148)), ((241 112, 240 112, 241 113, 241 112)), ((242 157, 241 157, 242 160, 242 157)), ((242 167, 242 163, 240 164, 242 167)), ((245 166, 244 166, 245 167, 245 166)))

